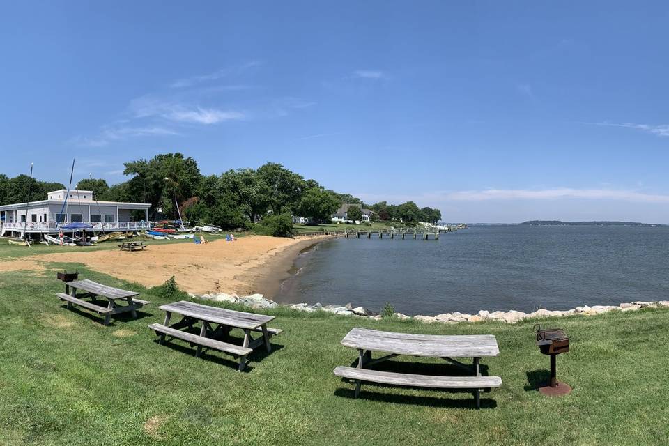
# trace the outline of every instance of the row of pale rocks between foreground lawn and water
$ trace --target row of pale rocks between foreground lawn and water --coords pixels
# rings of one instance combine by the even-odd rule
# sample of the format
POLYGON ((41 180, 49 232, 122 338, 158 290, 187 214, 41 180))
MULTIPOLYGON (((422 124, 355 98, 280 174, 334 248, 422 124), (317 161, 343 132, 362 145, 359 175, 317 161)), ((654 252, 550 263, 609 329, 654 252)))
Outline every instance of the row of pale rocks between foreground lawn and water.
MULTIPOLYGON (((301 312, 322 311, 332 314, 339 314, 341 316, 364 317, 376 320, 382 318, 380 314, 372 314, 364 307, 353 307, 351 304, 321 305, 320 303, 316 303, 314 305, 309 305, 306 303, 299 303, 299 304, 279 305, 274 300, 265 298, 265 296, 262 294, 238 296, 227 293, 212 293, 203 295, 191 294, 191 296, 193 298, 199 298, 203 300, 213 300, 214 302, 230 302, 230 303, 245 305, 253 309, 271 309, 277 307, 287 307, 296 309, 301 312)), ((516 312, 515 310, 510 310, 509 312, 489 312, 486 310, 481 310, 477 314, 454 312, 454 313, 437 314, 436 316, 422 316, 420 314, 417 316, 407 316, 406 314, 394 313, 394 316, 402 320, 414 319, 415 321, 422 321, 424 323, 460 323, 460 322, 480 322, 480 321, 500 321, 505 323, 516 323, 519 321, 523 321, 523 319, 528 319, 528 318, 542 318, 551 316, 561 317, 561 316, 572 316, 575 314, 579 314, 582 316, 592 316, 595 314, 603 314, 614 311, 630 312, 642 308, 669 308, 669 300, 637 301, 637 302, 622 303, 620 305, 593 305, 592 307, 588 305, 583 305, 583 307, 576 307, 574 309, 568 309, 564 311, 538 309, 537 311, 532 313, 516 312)))

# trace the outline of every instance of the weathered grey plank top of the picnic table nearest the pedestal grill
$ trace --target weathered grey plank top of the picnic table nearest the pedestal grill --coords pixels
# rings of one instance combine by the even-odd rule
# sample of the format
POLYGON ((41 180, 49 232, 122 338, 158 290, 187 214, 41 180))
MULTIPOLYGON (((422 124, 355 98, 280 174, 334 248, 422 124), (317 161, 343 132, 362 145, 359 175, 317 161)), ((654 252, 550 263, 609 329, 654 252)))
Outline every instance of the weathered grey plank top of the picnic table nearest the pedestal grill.
POLYGON ((351 348, 412 356, 486 357, 500 354, 497 339, 493 334, 444 336, 353 328, 341 340, 341 344, 351 348))

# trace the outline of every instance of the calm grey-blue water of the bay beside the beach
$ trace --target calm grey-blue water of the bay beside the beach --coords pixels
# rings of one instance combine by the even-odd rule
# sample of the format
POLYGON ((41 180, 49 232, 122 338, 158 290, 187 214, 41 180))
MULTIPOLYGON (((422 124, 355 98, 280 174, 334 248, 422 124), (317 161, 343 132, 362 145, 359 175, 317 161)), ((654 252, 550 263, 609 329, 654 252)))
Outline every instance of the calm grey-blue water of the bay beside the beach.
POLYGON ((405 314, 669 300, 669 228, 472 226, 440 240, 338 238, 302 254, 279 302, 405 314))

